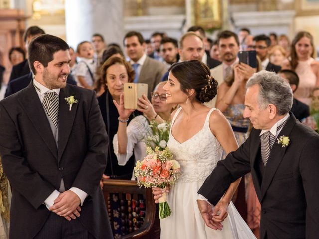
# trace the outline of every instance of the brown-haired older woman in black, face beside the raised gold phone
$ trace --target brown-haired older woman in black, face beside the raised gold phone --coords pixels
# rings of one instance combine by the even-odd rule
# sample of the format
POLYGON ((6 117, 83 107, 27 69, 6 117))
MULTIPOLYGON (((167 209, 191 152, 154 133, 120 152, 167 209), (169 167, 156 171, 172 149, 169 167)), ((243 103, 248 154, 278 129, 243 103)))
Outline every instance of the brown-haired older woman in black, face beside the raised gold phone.
MULTIPOLYGON (((105 128, 109 136, 108 162, 103 178, 128 179, 132 177, 135 163, 134 155, 130 157, 125 165, 119 165, 114 154, 112 140, 119 126, 119 113, 114 104, 120 104, 120 96, 123 93, 124 83, 133 82, 135 72, 130 63, 120 57, 111 57, 101 67, 102 84, 105 92, 98 97, 98 102, 105 128)), ((134 111, 127 122, 130 122, 134 116, 140 115, 139 111, 134 111)))

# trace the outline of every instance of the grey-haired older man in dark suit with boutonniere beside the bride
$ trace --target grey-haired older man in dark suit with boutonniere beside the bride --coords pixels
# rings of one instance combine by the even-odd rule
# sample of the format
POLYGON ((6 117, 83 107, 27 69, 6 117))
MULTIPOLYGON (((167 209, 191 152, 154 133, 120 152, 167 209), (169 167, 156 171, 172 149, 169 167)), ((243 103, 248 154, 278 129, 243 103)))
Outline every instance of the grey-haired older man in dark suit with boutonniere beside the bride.
POLYGON ((254 128, 238 150, 218 162, 199 189, 216 205, 209 220, 208 203, 198 200, 202 216, 206 224, 221 229, 227 205, 220 198, 230 183, 251 171, 261 203, 260 238, 317 239, 319 135, 289 112, 293 95, 280 76, 261 71, 246 88, 244 117, 254 128))

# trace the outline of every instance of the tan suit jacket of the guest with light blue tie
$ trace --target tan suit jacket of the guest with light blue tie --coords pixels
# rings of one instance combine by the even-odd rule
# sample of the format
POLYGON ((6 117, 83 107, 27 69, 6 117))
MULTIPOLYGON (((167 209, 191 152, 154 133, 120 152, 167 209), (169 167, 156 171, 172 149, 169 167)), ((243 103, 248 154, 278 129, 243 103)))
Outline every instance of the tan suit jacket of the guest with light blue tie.
POLYGON ((155 86, 160 83, 162 76, 167 71, 166 66, 150 57, 146 57, 146 60, 141 68, 139 74, 139 83, 148 84, 148 98, 151 99, 151 92, 155 86))

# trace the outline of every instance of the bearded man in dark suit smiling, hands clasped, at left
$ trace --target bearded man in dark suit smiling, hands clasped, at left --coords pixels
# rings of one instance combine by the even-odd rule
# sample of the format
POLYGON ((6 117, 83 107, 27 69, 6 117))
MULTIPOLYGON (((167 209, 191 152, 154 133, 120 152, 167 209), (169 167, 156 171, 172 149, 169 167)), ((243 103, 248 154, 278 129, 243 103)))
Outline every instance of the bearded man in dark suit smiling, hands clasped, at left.
POLYGON ((28 52, 33 80, 0 102, 10 239, 113 238, 99 186, 109 142, 95 94, 66 83, 62 39, 38 36, 28 52))

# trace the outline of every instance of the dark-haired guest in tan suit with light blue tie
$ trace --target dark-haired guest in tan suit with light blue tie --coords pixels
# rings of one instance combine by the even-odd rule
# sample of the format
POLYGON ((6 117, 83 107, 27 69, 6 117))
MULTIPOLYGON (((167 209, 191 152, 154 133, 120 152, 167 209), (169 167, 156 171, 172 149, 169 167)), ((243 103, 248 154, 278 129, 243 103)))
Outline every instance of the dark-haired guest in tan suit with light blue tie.
POLYGON ((123 40, 125 51, 130 57, 136 75, 135 83, 148 84, 148 98, 151 99, 151 92, 160 83, 162 76, 166 72, 166 66, 145 53, 145 42, 140 32, 130 31, 126 33, 123 40))

